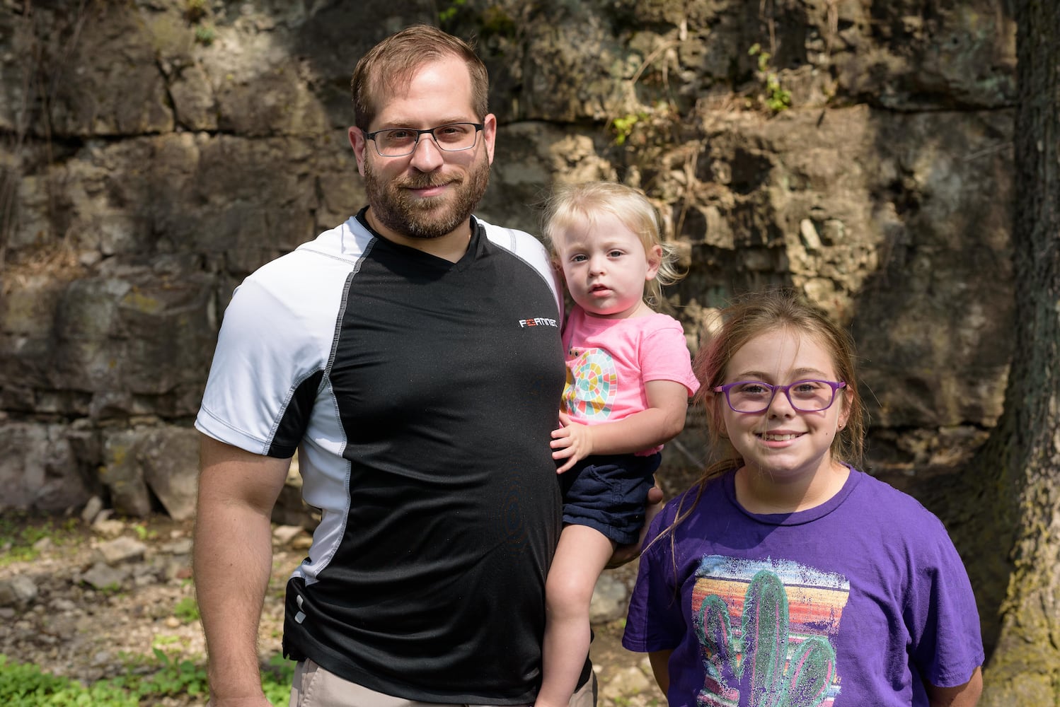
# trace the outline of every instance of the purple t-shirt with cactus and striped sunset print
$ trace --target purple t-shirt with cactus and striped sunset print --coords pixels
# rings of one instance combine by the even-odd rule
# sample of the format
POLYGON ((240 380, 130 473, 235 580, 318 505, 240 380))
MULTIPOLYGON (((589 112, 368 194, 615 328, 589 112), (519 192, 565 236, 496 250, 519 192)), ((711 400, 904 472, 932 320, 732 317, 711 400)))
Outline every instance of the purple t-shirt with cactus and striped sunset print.
POLYGON ((851 469, 825 504, 761 515, 734 478, 640 558, 622 645, 673 650, 670 707, 926 706, 924 681, 962 685, 983 664, 964 564, 917 501, 851 469))

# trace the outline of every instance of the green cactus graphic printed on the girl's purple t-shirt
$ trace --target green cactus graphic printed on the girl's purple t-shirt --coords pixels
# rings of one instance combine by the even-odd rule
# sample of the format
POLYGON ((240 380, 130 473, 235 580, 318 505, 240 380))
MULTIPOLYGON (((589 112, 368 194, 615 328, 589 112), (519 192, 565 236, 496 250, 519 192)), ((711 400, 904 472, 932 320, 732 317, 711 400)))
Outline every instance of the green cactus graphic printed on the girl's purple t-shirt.
POLYGON ((783 582, 759 570, 744 596, 737 638, 725 601, 704 597, 693 620, 707 675, 700 705, 816 707, 825 701, 835 679, 835 650, 825 636, 793 640, 788 609, 783 582))

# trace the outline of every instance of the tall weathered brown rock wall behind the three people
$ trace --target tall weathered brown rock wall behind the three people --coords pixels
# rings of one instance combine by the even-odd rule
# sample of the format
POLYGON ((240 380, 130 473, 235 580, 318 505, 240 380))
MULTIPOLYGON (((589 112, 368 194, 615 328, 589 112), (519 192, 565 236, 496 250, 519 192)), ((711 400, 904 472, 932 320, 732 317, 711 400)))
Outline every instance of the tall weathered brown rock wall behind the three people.
MULTIPOLYGON (((2 3, 0 507, 192 512, 231 291, 363 205, 349 77, 416 21, 474 36, 490 67, 483 217, 537 231, 552 180, 643 188, 689 269, 669 305, 690 346, 734 294, 801 289, 859 342, 868 466, 915 488, 1003 403, 1004 5, 2 3)), ((671 484, 704 449, 693 413, 671 484)))

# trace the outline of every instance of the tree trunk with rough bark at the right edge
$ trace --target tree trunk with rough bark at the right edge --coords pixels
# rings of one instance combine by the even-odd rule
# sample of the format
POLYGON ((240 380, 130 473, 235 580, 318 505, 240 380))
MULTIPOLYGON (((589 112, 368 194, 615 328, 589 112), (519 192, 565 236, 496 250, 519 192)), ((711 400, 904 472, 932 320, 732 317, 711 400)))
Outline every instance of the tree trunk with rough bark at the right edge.
MULTIPOLYGON (((1060 2, 1017 0, 1015 352, 986 461, 1011 493, 1012 573, 980 705, 1060 706, 1060 2)), ((1007 504, 1002 501, 1002 506, 1007 504)), ((992 511, 987 511, 992 512, 992 511)), ((1003 552, 1005 548, 999 547, 1003 552)), ((974 559, 973 559, 974 561, 974 559)))

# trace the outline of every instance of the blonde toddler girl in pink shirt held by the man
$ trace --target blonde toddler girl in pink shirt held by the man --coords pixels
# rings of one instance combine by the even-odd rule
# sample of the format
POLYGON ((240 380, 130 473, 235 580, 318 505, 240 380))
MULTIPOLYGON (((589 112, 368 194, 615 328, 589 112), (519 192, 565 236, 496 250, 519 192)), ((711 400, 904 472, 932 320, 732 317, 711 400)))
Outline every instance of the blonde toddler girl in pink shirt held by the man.
POLYGON ((556 188, 545 236, 575 306, 563 331, 567 386, 552 456, 564 529, 546 583, 538 707, 566 705, 589 648, 589 600, 616 545, 639 539, 662 443, 699 387, 681 324, 644 302, 679 279, 658 216, 614 182, 556 188))

